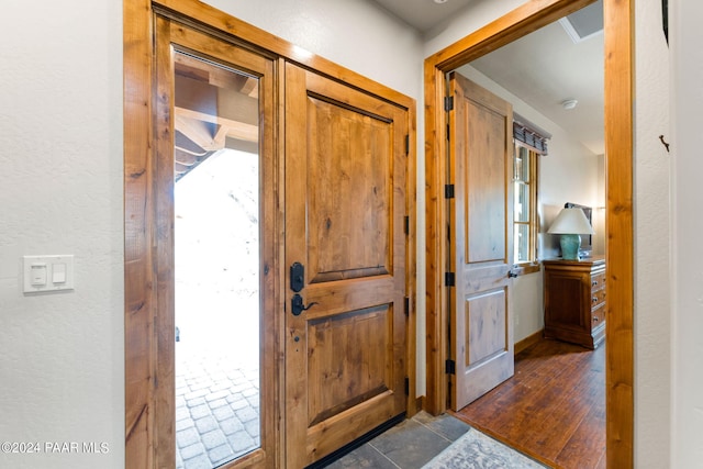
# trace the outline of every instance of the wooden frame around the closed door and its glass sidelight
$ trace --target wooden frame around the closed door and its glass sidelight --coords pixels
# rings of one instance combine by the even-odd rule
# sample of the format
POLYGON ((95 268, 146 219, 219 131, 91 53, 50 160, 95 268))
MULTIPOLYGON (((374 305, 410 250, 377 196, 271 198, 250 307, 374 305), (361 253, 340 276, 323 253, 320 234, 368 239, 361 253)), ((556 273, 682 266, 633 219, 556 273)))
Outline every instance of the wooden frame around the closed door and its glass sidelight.
MULTIPOLYGON (((124 77, 124 325, 125 325, 125 465, 126 467, 160 467, 159 447, 172 448, 175 437, 172 417, 164 417, 165 400, 159 392, 158 381, 172 379, 169 370, 159 367, 159 316, 160 304, 167 301, 158 292, 158 186, 155 178, 157 152, 154 145, 153 112, 157 91, 154 88, 154 7, 172 12, 199 27, 204 26, 212 34, 250 51, 275 58, 278 69, 284 62, 295 63, 304 68, 316 70, 334 80, 345 82, 359 90, 380 97, 408 110, 409 115, 409 156, 406 174, 406 213, 409 215, 409 235, 406 244, 406 288, 412 299, 408 320, 406 364, 410 383, 408 414, 417 412, 416 401, 416 102, 391 88, 384 87, 359 74, 341 67, 325 58, 276 37, 264 30, 237 20, 205 3, 192 0, 124 0, 123 2, 123 77, 124 77)), ((280 161, 283 154, 283 87, 280 78, 277 89, 277 122, 275 136, 275 159, 280 161)), ((277 186, 282 187, 282 168, 277 170, 277 186)), ((279 190, 277 187, 276 190, 279 190)), ((282 197, 282 196, 280 196, 282 197)), ((282 200, 281 200, 282 202, 282 200)), ((280 204, 284 206, 282 203, 280 204)), ((282 214, 277 215, 282 220, 282 214)), ((274 243, 282 246, 282 224, 277 225, 274 243)), ((282 284, 284 271, 282 257, 275 259, 278 280, 275 284, 274 301, 283 311, 282 284)), ((270 266, 269 266, 270 267, 270 266)), ((281 321, 282 324, 282 321, 281 321)), ((282 325, 281 325, 282 327, 282 325)), ((282 364, 282 330, 277 332, 279 357, 276 362, 276 394, 280 398, 277 409, 277 467, 284 466, 284 438, 280 418, 283 417, 284 382, 282 364)), ((160 338, 164 339, 163 337, 160 338)))

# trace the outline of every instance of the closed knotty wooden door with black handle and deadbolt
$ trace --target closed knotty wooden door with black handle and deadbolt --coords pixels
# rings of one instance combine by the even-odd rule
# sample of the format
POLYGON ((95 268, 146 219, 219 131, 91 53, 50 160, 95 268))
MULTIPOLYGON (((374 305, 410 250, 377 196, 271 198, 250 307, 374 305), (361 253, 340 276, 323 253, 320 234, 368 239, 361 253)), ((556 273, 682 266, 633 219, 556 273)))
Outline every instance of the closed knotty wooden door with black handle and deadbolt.
POLYGON ((405 411, 408 122, 405 109, 286 67, 289 468, 405 411))

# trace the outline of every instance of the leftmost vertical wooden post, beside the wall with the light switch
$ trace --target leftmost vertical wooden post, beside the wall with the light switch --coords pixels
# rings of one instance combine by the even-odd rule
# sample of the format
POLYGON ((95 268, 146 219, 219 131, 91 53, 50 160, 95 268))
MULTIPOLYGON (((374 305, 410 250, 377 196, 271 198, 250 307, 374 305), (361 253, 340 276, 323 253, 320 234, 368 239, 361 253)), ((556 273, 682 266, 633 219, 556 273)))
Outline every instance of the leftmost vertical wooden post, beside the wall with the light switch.
POLYGON ((123 3, 125 466, 154 467, 152 31, 148 0, 123 3))

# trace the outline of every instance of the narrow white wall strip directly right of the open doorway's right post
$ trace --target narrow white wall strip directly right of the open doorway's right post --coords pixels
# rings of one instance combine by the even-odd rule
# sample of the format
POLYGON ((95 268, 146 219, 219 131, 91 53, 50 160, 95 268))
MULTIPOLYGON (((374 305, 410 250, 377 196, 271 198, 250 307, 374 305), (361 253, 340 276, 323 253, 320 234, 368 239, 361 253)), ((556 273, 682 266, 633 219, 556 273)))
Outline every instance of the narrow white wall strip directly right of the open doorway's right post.
POLYGON ((635 467, 669 466, 670 213, 669 51, 661 1, 636 3, 635 101, 635 467))

